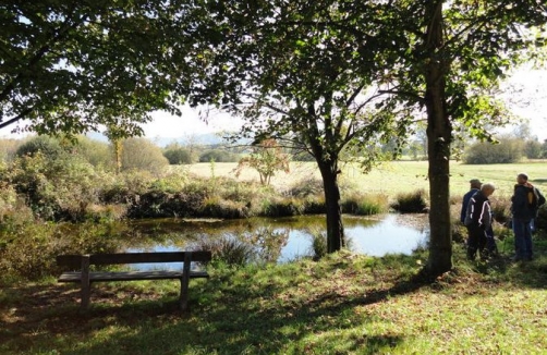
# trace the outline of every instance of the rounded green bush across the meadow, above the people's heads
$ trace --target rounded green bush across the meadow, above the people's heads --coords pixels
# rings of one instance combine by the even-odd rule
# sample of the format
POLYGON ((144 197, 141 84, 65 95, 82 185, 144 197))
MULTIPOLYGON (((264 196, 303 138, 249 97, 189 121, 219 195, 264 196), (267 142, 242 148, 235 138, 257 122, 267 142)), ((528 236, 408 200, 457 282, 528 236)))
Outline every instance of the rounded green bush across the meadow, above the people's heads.
POLYGON ((467 164, 513 163, 523 156, 523 142, 516 138, 502 138, 499 144, 478 142, 464 154, 463 162, 467 164))

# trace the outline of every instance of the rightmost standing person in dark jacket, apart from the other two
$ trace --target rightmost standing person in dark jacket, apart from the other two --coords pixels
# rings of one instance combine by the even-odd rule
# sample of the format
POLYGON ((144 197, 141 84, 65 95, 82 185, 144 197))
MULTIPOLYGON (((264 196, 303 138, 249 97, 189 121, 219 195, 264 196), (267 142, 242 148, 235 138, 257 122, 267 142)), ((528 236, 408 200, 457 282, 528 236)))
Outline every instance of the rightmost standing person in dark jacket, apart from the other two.
POLYGON ((513 261, 532 260, 532 221, 537 217, 537 210, 543 204, 545 204, 545 197, 528 183, 528 175, 518 174, 511 197, 515 252, 513 261))

